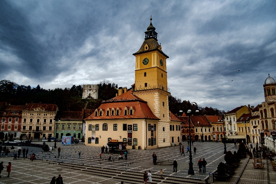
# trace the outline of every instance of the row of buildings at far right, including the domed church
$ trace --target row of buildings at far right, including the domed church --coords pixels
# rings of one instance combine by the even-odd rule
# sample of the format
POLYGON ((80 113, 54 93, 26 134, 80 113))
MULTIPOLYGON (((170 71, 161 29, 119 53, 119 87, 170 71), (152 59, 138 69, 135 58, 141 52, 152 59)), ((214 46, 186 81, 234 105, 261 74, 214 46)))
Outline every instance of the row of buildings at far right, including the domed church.
POLYGON ((254 106, 240 106, 225 116, 228 139, 244 139, 248 143, 261 143, 264 135, 272 135, 276 139, 275 115, 276 108, 276 83, 272 77, 267 77, 264 82, 264 102, 254 106))

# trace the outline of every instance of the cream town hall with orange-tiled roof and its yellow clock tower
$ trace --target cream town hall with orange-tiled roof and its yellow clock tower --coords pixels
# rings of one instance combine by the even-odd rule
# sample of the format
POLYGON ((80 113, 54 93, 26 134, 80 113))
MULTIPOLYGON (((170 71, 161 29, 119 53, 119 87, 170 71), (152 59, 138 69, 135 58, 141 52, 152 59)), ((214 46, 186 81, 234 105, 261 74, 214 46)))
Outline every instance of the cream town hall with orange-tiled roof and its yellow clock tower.
MULTIPOLYGON (((103 101, 85 119, 85 144, 102 146, 110 139, 126 142, 137 149, 179 145, 180 123, 168 106, 166 59, 150 23, 145 41, 135 56, 133 89, 103 101), (177 128, 176 128, 177 127, 177 128)), ((129 147, 128 147, 129 149, 129 147)))

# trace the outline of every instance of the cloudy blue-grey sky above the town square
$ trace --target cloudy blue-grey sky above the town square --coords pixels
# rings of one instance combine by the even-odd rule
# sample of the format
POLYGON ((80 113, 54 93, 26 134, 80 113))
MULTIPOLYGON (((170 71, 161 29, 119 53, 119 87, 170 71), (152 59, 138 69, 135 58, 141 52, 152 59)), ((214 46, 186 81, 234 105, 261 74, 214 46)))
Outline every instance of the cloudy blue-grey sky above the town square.
POLYGON ((276 79, 275 12, 276 1, 0 1, 0 80, 130 87, 152 16, 173 96, 256 106, 276 79))

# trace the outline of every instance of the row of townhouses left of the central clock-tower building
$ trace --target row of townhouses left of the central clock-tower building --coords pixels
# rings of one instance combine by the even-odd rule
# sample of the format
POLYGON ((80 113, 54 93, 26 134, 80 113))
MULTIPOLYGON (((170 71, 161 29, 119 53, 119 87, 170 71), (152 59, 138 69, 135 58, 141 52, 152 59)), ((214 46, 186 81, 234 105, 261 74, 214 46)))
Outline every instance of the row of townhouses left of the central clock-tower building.
POLYGON ((85 136, 84 118, 93 111, 59 111, 55 104, 35 104, 26 106, 8 105, 0 102, 1 131, 0 138, 5 134, 19 138, 47 139, 62 136, 74 136, 81 139, 85 136))

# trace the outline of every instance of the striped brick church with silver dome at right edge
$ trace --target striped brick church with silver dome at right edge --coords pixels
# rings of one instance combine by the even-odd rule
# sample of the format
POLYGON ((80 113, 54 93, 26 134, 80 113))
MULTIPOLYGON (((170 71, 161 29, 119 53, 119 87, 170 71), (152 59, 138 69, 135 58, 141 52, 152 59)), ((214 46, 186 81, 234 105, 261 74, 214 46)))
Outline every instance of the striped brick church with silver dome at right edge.
MULTIPOLYGON (((269 75, 269 74, 268 74, 269 75)), ((264 81, 264 102, 259 107, 260 122, 261 122, 261 138, 264 140, 264 135, 272 135, 276 139, 275 131, 275 108, 276 108, 276 95, 275 88, 276 82, 269 75, 264 81)))

